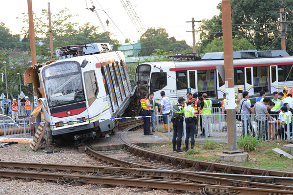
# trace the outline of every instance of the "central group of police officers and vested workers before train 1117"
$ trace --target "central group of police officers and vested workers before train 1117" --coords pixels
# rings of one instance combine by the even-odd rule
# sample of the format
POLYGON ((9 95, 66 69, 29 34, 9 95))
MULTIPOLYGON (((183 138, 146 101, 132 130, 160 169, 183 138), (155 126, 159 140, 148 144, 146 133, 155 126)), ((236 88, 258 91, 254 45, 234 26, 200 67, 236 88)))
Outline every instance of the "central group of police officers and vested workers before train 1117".
MULTIPOLYGON (((168 132, 168 127, 171 127, 171 122, 173 124, 173 151, 183 152, 181 150, 181 140, 183 134, 183 122, 186 123, 186 139, 185 139, 185 151, 188 151, 188 143, 190 137, 191 149, 194 147, 194 137, 198 135, 198 122, 200 122, 201 135, 212 137, 212 124, 211 124, 211 112, 212 112, 212 102, 209 100, 208 95, 204 93, 198 98, 198 94, 188 92, 186 95, 188 97, 187 101, 180 97, 178 102, 172 105, 168 97, 166 97, 165 91, 161 91, 161 109, 160 114, 163 116, 164 130, 162 132, 168 132), (172 112, 172 113, 171 113, 172 112), (168 117, 172 114, 172 118, 169 121, 168 117), (177 146, 177 147, 176 147, 177 146)), ((153 100, 153 93, 148 94, 143 93, 144 98, 140 100, 141 102, 141 116, 152 116, 143 117, 144 119, 144 135, 153 135, 155 132, 155 113, 158 113, 158 104, 153 100), (151 121, 151 124, 150 124, 151 121), (152 132, 150 131, 152 128, 152 132)), ((171 128, 170 128, 171 130, 171 128)))

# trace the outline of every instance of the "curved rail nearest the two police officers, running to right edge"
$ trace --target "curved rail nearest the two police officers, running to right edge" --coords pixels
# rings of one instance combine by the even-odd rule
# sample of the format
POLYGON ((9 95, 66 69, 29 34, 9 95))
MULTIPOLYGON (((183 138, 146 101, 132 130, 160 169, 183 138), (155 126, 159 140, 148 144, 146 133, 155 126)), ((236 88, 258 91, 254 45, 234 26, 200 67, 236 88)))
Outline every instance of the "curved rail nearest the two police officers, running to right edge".
MULTIPOLYGON (((135 128, 136 126, 134 126, 135 128)), ((261 175, 261 176, 278 176, 278 177, 293 177, 292 172, 272 171, 265 169, 257 169, 242 166, 233 166, 220 163, 211 163, 206 161, 193 160, 188 158, 180 158, 177 156, 154 152, 145 148, 139 147, 135 144, 126 142, 122 135, 124 132, 131 130, 133 127, 126 128, 119 135, 119 139, 126 145, 126 148, 130 153, 138 155, 140 157, 149 158, 150 160, 164 161, 165 163, 172 163, 173 165, 180 165, 182 167, 192 167, 194 170, 207 170, 209 172, 223 172, 223 173, 236 173, 236 174, 249 174, 249 175, 261 175)))

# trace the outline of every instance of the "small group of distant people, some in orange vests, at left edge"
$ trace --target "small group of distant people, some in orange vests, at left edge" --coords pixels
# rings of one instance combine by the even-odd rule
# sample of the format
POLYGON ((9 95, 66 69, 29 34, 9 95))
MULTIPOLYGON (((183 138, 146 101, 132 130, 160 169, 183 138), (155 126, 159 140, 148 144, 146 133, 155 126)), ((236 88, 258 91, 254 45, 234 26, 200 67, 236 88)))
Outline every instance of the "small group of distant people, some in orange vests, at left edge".
POLYGON ((13 120, 19 120, 18 116, 21 107, 24 108, 26 115, 28 117, 30 116, 31 103, 28 96, 20 100, 20 105, 16 99, 13 99, 10 103, 10 101, 6 97, 4 97, 2 100, 2 105, 3 114, 7 116, 11 115, 13 120))

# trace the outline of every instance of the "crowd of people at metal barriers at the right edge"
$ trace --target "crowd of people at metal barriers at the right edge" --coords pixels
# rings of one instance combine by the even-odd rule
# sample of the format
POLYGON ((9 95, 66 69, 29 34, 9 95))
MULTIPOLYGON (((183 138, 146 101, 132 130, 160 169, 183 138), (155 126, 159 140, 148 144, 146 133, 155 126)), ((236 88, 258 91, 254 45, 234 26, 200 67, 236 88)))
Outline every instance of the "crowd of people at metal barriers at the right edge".
MULTIPOLYGON (((259 97, 256 98, 256 103, 254 104, 253 108, 251 108, 249 92, 243 92, 242 87, 238 87, 238 94, 235 95, 235 102, 236 112, 238 115, 241 116, 242 135, 256 135, 251 123, 251 114, 253 113, 255 115, 255 122, 257 124, 257 132, 259 138, 268 140, 268 122, 280 124, 277 130, 277 135, 279 135, 281 139, 287 139, 287 125, 289 125, 289 136, 291 136, 291 110, 293 108, 292 93, 293 90, 290 90, 290 92, 288 92, 288 87, 284 87, 283 92, 274 91, 273 98, 271 99, 266 97, 265 91, 261 90, 259 93, 259 97)), ((226 98, 225 94, 224 98, 226 98)), ((222 101, 222 109, 226 109, 226 101, 222 101)))

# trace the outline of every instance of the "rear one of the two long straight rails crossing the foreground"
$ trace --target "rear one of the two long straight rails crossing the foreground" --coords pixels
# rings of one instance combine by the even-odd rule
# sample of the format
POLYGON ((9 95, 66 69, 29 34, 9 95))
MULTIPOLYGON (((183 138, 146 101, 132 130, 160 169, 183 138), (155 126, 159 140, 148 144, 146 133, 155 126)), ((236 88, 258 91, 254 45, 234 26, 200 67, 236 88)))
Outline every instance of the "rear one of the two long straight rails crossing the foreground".
MULTIPOLYGON (((251 188, 269 188, 269 189, 290 189, 293 191, 293 186, 285 186, 285 183, 288 185, 293 183, 293 178, 284 178, 282 182, 278 183, 279 185, 251 182, 245 180, 236 180, 215 177, 214 175, 202 175, 197 173, 187 173, 187 172, 177 172, 172 170, 155 170, 155 169, 135 169, 135 168, 122 168, 122 167, 102 167, 102 166, 81 166, 81 165, 63 165, 63 164, 41 164, 41 163, 28 163, 28 162, 5 162, 0 161, 0 167, 6 168, 22 168, 22 169, 40 169, 40 170, 53 170, 53 171, 70 171, 70 172, 87 172, 91 174, 101 174, 102 173, 132 173, 135 176, 149 176, 149 177, 158 177, 158 178, 172 178, 172 179, 182 179, 192 182, 205 183, 210 185, 228 185, 228 186, 241 186, 241 187, 251 187, 251 188)), ((10 170, 11 171, 11 170, 10 170)), ((267 182, 272 183, 274 178, 266 178, 267 182)))

